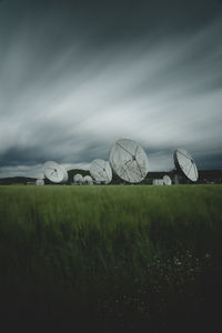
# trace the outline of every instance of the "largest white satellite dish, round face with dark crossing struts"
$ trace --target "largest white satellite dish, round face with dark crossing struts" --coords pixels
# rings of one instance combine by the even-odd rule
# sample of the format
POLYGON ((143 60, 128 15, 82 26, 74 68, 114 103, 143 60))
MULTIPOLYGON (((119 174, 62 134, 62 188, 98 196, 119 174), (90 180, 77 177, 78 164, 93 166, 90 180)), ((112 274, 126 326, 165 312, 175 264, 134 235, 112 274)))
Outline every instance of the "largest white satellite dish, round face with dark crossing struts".
POLYGON ((149 170, 148 155, 137 142, 118 140, 110 152, 110 163, 117 174, 129 183, 141 182, 149 170))

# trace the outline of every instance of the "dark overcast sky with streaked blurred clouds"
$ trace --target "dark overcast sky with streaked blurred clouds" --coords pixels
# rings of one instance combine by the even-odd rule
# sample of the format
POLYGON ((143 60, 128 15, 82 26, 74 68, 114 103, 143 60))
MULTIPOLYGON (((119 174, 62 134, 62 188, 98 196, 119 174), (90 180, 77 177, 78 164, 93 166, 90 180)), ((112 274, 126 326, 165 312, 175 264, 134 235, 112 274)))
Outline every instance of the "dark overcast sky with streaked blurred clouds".
POLYGON ((222 169, 222 1, 0 0, 0 176, 89 168, 120 138, 152 171, 176 148, 222 169))

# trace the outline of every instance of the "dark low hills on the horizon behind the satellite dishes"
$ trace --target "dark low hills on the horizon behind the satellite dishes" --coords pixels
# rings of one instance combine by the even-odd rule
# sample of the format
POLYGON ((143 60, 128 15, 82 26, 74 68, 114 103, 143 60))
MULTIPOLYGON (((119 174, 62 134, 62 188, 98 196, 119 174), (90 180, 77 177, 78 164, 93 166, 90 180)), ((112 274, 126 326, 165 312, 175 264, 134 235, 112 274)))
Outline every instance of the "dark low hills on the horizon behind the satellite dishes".
MULTIPOLYGON (((71 184, 73 182, 73 175, 80 173, 83 176, 90 175, 89 170, 81 170, 81 169, 73 169, 68 171, 68 184, 71 184)), ((143 180, 142 184, 152 184, 153 179, 161 179, 164 174, 168 174, 171 179, 173 179, 173 172, 149 172, 147 178, 143 180)), ((3 178, 0 179, 0 185, 11 185, 11 184, 27 184, 31 182, 36 182, 37 179, 33 178, 26 178, 26 176, 12 176, 12 178, 3 178)), ((50 181, 44 180, 46 184, 50 184, 50 181)), ((186 183, 188 181, 183 179, 183 183, 186 183)), ((222 170, 199 170, 199 181, 198 183, 222 183, 222 170)), ((123 181, 113 173, 112 184, 120 184, 123 183, 123 181)))

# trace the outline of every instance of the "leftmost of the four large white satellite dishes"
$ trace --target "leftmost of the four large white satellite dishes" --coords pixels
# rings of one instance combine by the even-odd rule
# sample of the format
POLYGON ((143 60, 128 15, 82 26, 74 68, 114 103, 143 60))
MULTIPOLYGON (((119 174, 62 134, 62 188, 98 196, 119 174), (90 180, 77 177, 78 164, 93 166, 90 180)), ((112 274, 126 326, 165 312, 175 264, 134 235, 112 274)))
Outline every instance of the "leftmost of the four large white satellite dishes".
POLYGON ((53 161, 44 163, 44 175, 52 183, 64 183, 68 180, 67 170, 53 161))

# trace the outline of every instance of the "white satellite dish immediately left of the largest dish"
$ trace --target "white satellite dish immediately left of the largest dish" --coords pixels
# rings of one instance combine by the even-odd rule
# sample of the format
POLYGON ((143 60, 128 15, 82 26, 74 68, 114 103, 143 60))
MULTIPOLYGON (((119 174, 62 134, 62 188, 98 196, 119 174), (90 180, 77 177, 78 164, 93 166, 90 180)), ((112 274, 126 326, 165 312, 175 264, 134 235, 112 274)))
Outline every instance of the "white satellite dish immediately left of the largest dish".
POLYGON ((112 180, 112 169, 104 160, 93 160, 90 165, 90 173, 97 183, 110 183, 112 180))

